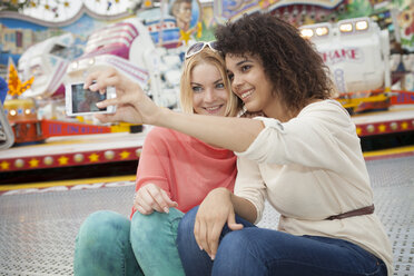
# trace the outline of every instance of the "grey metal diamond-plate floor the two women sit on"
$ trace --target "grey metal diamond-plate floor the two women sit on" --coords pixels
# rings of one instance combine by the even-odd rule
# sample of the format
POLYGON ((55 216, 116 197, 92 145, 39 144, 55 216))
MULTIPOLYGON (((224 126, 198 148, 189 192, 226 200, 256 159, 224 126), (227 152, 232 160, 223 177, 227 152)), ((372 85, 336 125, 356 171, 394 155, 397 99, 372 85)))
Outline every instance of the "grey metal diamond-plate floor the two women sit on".
MULTIPOLYGON (((367 162, 376 213, 392 240, 395 273, 414 276, 414 157, 367 162)), ((72 275, 73 243, 82 220, 110 209, 129 215, 134 184, 88 190, 0 196, 0 276, 72 275)), ((266 208, 260 226, 276 227, 266 208)))

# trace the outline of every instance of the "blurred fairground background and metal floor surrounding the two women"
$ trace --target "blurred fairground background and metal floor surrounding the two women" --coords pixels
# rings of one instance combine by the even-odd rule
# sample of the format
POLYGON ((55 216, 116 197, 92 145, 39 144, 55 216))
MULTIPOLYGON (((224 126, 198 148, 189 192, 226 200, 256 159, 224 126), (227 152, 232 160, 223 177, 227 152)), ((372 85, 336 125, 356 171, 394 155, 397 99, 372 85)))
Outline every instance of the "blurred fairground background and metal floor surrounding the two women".
MULTIPOLYGON (((254 12, 297 27, 328 66, 361 138, 395 275, 414 275, 411 0, 1 0, 0 275, 72 275, 81 221, 99 209, 129 215, 150 127, 68 116, 71 85, 115 67, 179 110, 187 47, 254 12)), ((267 208, 260 226, 277 220, 267 208)))

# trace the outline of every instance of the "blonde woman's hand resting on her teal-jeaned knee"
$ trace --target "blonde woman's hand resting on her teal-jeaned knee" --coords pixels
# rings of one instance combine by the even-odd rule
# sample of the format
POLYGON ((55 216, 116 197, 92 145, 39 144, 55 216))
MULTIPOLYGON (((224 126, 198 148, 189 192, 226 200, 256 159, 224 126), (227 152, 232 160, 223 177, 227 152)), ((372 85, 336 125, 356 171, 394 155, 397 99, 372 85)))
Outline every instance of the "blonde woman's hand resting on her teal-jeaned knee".
POLYGON ((142 215, 159 213, 169 213, 169 207, 177 207, 167 193, 155 184, 147 184, 135 193, 134 207, 142 215))

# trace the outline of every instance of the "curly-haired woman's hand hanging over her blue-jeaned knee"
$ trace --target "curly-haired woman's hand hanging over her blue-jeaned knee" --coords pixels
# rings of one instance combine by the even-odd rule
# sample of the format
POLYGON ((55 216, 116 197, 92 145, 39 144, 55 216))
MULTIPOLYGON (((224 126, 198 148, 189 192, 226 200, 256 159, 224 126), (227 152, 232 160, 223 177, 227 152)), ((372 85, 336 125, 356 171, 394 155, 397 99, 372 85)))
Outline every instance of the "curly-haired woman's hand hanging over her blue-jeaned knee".
POLYGON ((211 259, 216 256, 219 237, 226 223, 231 230, 243 228, 241 224, 236 223, 231 193, 226 188, 217 188, 203 200, 194 226, 194 235, 198 246, 211 259))

